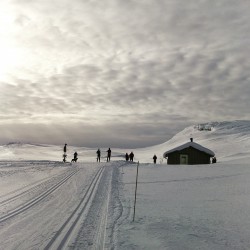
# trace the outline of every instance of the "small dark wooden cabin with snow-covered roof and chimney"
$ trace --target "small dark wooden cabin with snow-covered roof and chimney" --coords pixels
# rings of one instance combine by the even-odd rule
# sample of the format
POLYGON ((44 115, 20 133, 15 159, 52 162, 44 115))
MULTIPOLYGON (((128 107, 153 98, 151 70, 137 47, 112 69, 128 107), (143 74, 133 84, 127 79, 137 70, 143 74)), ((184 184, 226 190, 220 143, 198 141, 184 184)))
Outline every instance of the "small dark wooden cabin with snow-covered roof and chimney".
POLYGON ((167 158, 168 164, 188 165, 210 164, 210 158, 214 156, 213 151, 193 142, 193 138, 190 138, 190 142, 173 148, 163 154, 163 157, 167 158))

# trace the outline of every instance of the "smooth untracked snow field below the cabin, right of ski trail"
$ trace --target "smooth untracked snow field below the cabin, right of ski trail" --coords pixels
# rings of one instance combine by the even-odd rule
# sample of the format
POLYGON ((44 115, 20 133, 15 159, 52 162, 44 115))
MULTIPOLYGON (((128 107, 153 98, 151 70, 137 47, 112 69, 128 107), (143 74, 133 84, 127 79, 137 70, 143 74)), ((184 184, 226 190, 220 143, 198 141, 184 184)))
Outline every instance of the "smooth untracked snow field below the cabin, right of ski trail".
POLYGON ((135 222, 135 167, 124 168, 117 249, 250 249, 248 165, 141 164, 135 222))

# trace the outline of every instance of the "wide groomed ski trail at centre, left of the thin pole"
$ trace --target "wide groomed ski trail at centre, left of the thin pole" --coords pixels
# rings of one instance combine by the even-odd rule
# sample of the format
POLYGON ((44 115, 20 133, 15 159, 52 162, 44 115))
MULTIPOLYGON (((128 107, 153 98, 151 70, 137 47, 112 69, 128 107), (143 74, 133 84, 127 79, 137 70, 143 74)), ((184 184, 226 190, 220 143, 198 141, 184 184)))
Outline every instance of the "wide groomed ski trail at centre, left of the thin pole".
POLYGON ((45 250, 110 249, 114 220, 110 218, 109 210, 113 203, 111 191, 114 183, 117 188, 118 167, 117 163, 111 163, 99 168, 78 206, 45 246, 45 250))

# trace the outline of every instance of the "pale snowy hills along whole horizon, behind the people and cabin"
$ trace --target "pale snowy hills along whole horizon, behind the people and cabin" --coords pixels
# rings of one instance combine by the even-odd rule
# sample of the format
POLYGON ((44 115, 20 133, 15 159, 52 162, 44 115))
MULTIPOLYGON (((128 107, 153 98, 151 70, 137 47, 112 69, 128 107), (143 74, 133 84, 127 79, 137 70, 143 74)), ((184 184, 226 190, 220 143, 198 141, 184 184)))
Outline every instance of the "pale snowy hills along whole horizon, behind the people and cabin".
MULTIPOLYGON (((250 121, 225 121, 196 124, 185 128, 169 141, 160 145, 138 149, 112 149, 112 158, 122 160, 126 152, 135 154, 135 161, 152 163, 154 154, 158 162, 166 162, 163 153, 190 140, 211 149, 219 162, 241 160, 248 162, 250 158, 250 121), (209 128, 201 130, 200 128, 209 128)), ((61 161, 62 146, 43 144, 10 143, 0 146, 0 160, 44 160, 61 161)), ((84 147, 68 147, 68 161, 75 151, 79 160, 84 162, 95 161, 96 150, 84 147)), ((101 148, 102 160, 106 157, 106 148, 101 148)))

